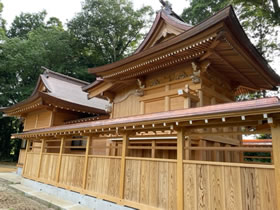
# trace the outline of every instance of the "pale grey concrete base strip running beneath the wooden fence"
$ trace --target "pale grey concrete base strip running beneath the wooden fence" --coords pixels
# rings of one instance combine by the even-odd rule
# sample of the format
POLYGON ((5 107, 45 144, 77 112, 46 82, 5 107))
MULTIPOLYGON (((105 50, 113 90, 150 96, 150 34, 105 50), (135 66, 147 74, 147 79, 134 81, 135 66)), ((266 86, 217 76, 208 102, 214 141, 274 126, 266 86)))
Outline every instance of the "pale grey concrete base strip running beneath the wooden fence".
MULTIPOLYGON (((52 185, 43 184, 33 180, 22 178, 22 185, 35 189, 38 192, 43 192, 55 196, 58 199, 74 202, 77 205, 85 206, 94 210, 132 210, 125 206, 120 206, 109 201, 97 199, 88 195, 72 192, 52 185)), ((34 193, 33 193, 34 194, 34 193)))

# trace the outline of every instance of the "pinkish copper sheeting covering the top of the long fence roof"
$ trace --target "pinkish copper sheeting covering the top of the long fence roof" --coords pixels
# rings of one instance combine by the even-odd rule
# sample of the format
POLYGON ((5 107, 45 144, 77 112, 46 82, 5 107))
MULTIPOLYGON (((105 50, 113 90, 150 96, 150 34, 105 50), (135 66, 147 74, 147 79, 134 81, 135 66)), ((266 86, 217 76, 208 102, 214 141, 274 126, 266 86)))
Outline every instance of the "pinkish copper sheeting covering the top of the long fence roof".
POLYGON ((153 114, 144 114, 131 117, 123 117, 116 119, 98 120, 94 122, 85 122, 72 125, 62 125, 45 129, 38 129, 33 131, 24 132, 24 134, 36 134, 36 133, 46 133, 46 132, 58 132, 63 130, 78 130, 78 129, 89 129, 89 128, 100 128, 100 127, 121 127, 126 124, 147 124, 156 123, 157 121, 164 120, 180 120, 180 118, 190 118, 193 117, 209 117, 211 115, 217 114, 233 114, 236 112, 244 111, 254 111, 264 108, 280 108, 280 102, 278 97, 263 98, 251 101, 241 101, 232 102, 226 104, 217 104, 211 106, 182 109, 167 112, 158 112, 153 114))

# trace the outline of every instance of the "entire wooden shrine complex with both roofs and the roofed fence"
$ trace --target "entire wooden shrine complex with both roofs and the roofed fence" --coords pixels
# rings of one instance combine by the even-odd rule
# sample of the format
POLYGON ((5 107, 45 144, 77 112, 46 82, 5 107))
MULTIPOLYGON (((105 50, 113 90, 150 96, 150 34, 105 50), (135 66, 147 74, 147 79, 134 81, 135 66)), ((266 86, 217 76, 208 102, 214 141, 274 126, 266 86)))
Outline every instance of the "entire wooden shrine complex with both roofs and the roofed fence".
POLYGON ((231 6, 196 26, 166 6, 133 55, 89 73, 47 70, 3 109, 24 119, 24 178, 137 209, 280 209, 279 98, 236 101, 280 77, 231 6), (245 134, 272 134, 272 147, 245 134))

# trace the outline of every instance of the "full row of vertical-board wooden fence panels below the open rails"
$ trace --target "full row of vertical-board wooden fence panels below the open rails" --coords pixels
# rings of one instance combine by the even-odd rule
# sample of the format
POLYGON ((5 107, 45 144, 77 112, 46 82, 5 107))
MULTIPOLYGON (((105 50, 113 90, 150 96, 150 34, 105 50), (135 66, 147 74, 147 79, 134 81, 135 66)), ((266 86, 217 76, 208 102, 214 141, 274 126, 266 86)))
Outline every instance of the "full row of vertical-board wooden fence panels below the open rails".
MULTIPOLYGON (((123 185, 121 164, 121 157, 28 152, 23 176, 134 208, 178 209, 177 160, 125 157, 123 185)), ((181 187, 184 210, 276 209, 271 165, 184 160, 181 187)))

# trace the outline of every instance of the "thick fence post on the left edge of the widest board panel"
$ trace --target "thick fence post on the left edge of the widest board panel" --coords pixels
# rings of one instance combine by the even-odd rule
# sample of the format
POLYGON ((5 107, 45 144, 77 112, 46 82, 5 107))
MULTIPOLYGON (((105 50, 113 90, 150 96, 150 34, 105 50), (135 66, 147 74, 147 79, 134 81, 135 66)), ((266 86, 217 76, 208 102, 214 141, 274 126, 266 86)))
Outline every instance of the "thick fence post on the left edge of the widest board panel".
POLYGON ((177 209, 184 209, 184 142, 185 130, 177 130, 177 209))

